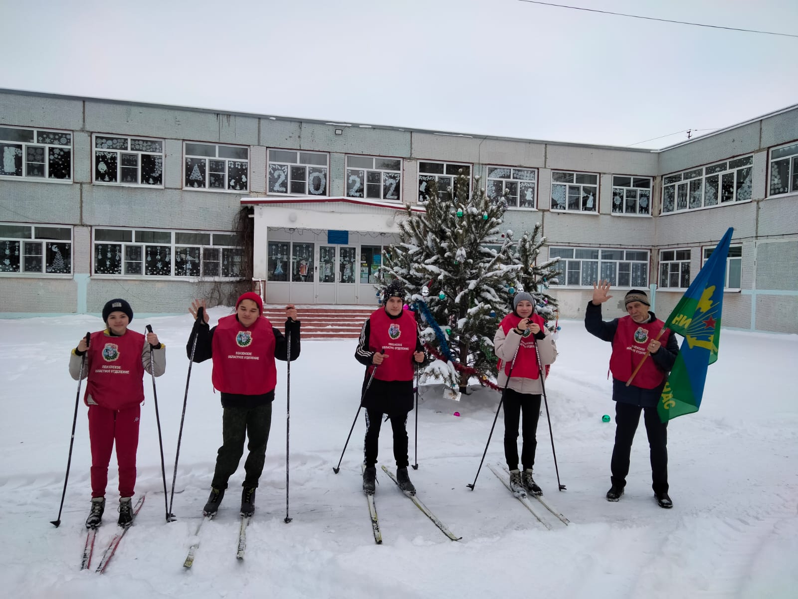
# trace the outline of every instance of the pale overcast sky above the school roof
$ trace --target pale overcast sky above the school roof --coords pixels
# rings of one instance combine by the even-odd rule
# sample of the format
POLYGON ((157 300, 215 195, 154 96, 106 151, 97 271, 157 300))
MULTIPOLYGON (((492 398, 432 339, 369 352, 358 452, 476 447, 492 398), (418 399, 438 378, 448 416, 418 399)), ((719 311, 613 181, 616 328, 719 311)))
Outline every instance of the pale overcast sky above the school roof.
MULTIPOLYGON (((796 0, 559 3, 798 34, 796 0)), ((798 103, 798 38, 521 0, 0 0, 0 14, 8 89, 637 148, 798 103)))

